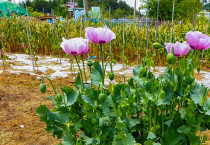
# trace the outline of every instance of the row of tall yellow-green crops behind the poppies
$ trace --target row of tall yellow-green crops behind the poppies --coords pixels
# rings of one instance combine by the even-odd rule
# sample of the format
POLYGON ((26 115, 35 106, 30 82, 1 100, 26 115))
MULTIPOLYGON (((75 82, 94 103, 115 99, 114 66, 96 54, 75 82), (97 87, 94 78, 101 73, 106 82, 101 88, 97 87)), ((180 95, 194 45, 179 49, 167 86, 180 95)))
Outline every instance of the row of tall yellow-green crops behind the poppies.
MULTIPOLYGON (((2 34, 2 43, 5 52, 25 52, 30 53, 30 47, 32 48, 32 54, 43 55, 61 55, 64 53, 60 51, 60 42, 62 37, 75 38, 85 37, 85 27, 101 27, 107 25, 108 22, 99 21, 98 23, 87 21, 73 21, 67 20, 66 22, 56 21, 54 24, 50 24, 47 21, 39 21, 33 18, 27 17, 12 17, 0 19, 0 29, 2 34), (29 43, 30 42, 30 43, 29 43)), ((111 30, 116 34, 117 39, 110 44, 104 45, 105 57, 109 59, 111 56, 114 60, 129 64, 131 62, 138 63, 141 58, 146 54, 147 48, 147 30, 146 25, 142 26, 141 22, 135 23, 118 23, 111 24, 111 30)), ((193 24, 190 22, 184 24, 174 24, 172 42, 186 41, 186 33, 193 30, 193 24)), ((196 31, 203 32, 204 34, 210 32, 210 28, 207 28, 207 19, 196 22, 196 31)), ((158 26, 149 27, 149 53, 150 56, 155 56, 155 62, 163 64, 167 55, 164 48, 155 52, 152 47, 154 42, 159 42, 162 45, 166 42, 170 42, 171 23, 165 22, 158 26), (158 29, 158 31, 156 31, 158 29), (158 33, 157 33, 158 32, 158 33), (157 33, 157 35, 156 35, 157 33)), ((100 57, 100 51, 98 46, 90 44, 89 56, 100 57)), ((206 64, 209 63, 208 56, 209 50, 204 51, 204 60, 206 64)), ((195 52, 194 57, 201 58, 202 51, 195 52)), ((187 55, 188 57, 190 55, 187 55)))

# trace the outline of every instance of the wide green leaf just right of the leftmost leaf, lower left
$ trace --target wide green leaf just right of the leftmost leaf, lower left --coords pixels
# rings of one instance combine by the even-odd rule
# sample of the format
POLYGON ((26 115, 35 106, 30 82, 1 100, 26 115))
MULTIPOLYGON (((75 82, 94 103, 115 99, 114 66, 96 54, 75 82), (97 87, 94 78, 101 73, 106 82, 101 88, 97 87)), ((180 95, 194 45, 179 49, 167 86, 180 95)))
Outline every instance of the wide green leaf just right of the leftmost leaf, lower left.
POLYGON ((59 121, 60 123, 66 123, 69 122, 69 116, 71 115, 70 112, 68 113, 62 113, 62 112, 51 112, 49 110, 47 110, 47 114, 48 114, 48 119, 49 120, 56 120, 59 121))

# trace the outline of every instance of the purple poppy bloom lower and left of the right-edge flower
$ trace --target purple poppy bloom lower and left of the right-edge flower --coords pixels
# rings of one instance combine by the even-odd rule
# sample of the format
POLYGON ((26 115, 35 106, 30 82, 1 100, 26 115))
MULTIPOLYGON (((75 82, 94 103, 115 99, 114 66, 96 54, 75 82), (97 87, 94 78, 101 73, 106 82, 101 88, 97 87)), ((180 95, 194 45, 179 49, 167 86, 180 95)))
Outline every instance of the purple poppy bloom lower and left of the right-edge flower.
POLYGON ((190 45, 186 41, 183 43, 176 42, 175 44, 165 43, 165 46, 168 53, 171 52, 171 48, 173 47, 175 56, 183 56, 190 51, 190 45))

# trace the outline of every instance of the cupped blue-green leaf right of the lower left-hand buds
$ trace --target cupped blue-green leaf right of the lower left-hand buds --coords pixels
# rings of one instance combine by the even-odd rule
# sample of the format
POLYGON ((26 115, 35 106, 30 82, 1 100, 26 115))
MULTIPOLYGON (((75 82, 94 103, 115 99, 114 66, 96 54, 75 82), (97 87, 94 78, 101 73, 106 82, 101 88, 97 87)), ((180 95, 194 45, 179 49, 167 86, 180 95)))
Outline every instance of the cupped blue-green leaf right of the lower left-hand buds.
POLYGON ((74 91, 74 89, 72 89, 70 87, 63 87, 61 89, 66 94, 66 101, 67 101, 66 104, 67 104, 67 106, 73 105, 78 98, 77 93, 74 91))

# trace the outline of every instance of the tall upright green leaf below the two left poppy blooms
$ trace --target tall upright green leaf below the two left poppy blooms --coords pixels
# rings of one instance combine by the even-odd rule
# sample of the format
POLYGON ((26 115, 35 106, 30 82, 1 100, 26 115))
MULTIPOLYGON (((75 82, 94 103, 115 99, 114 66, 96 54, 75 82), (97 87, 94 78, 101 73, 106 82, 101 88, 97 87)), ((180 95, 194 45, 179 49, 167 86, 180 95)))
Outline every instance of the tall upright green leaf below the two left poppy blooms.
POLYGON ((98 61, 94 62, 93 66, 94 68, 91 70, 90 74, 91 82, 94 85, 99 86, 102 81, 102 68, 98 61))

